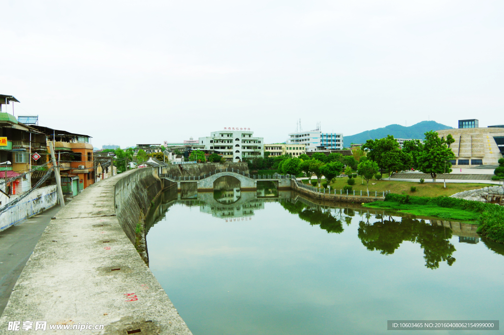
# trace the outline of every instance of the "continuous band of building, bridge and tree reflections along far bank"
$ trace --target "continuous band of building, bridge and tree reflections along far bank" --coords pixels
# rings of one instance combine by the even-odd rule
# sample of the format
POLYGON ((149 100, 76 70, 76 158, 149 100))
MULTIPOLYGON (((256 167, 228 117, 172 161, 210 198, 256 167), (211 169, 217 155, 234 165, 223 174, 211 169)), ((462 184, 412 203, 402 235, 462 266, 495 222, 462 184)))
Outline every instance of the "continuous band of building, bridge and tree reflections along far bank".
MULTIPOLYGON (((216 180, 214 192, 198 193, 192 184, 186 184, 177 197, 176 189, 170 189, 156 200, 147 215, 147 230, 162 219, 169 207, 182 203, 197 206, 201 213, 229 221, 252 220, 255 212, 265 210, 265 203, 277 202, 289 213, 296 215, 311 226, 319 226, 328 233, 341 234, 345 228, 358 223, 357 237, 369 251, 390 255, 403 241, 419 244, 423 249, 425 266, 438 269, 446 262, 456 261, 453 235, 459 243, 476 244, 480 241, 476 226, 440 220, 418 220, 411 217, 392 217, 385 212, 373 212, 363 208, 338 208, 321 206, 310 199, 291 191, 278 191, 275 183, 266 182, 258 191, 239 190, 239 181, 233 177, 216 180)), ((194 183, 196 185, 196 183, 194 183)), ((504 246, 482 239, 488 249, 504 255, 504 246)))

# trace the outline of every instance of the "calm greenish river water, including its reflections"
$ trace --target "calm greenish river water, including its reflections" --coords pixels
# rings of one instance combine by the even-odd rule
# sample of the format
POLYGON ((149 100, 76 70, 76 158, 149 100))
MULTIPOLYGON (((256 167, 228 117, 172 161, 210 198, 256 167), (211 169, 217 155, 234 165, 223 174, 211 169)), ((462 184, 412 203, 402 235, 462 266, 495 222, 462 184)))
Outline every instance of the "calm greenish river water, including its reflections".
POLYGON ((389 319, 504 320, 504 247, 467 227, 321 207, 268 183, 257 192, 232 180, 216 186, 167 192, 148 222, 150 268, 195 335, 381 334, 389 319))

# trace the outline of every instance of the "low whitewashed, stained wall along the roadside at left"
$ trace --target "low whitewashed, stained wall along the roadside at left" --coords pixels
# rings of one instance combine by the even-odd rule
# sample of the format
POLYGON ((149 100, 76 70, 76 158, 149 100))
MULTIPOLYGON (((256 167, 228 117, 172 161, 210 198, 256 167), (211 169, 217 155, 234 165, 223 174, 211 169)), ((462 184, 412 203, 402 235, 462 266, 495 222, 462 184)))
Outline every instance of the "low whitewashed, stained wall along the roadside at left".
MULTIPOLYGON (((11 195, 9 202, 14 201, 19 195, 11 195)), ((3 197, 7 199, 6 196, 3 197)), ((19 203, 14 205, 7 212, 0 215, 0 231, 3 231, 16 223, 23 221, 25 219, 31 218, 49 208, 53 207, 57 203, 57 193, 56 185, 50 185, 38 188, 28 194, 19 203)), ((6 203, 2 204, 6 205, 6 203)))

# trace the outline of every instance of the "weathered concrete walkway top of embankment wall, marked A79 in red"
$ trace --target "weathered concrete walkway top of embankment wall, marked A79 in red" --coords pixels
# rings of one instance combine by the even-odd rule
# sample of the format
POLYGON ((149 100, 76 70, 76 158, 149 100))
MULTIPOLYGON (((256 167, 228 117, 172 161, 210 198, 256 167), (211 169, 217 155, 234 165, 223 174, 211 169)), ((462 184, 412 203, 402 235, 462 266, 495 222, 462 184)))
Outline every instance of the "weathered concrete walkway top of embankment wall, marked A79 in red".
POLYGON ((16 320, 105 325, 82 333, 191 334, 115 216, 114 185, 137 171, 87 187, 51 220, 0 317, 0 334, 16 320))

